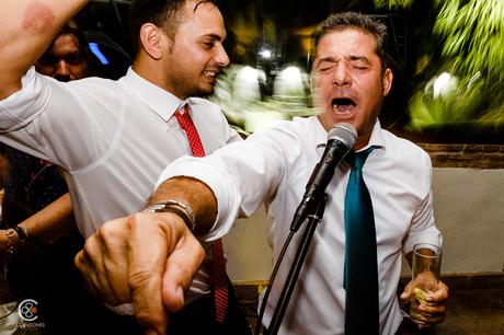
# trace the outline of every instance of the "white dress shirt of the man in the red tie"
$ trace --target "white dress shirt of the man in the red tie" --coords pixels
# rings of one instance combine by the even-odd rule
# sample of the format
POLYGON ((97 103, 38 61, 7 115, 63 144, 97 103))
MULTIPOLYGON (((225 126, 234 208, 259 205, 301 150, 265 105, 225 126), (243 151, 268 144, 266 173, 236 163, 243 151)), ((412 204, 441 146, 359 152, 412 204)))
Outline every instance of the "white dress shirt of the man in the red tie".
MULTIPOLYGON (((62 83, 31 68, 22 83, 0 102, 0 140, 62 168, 84 236, 141 209, 165 165, 192 154, 179 106, 190 105, 207 153, 240 139, 216 104, 181 101, 133 69, 62 83)), ((203 266, 192 292, 209 291, 209 274, 203 266)))

